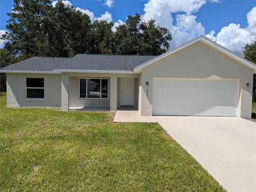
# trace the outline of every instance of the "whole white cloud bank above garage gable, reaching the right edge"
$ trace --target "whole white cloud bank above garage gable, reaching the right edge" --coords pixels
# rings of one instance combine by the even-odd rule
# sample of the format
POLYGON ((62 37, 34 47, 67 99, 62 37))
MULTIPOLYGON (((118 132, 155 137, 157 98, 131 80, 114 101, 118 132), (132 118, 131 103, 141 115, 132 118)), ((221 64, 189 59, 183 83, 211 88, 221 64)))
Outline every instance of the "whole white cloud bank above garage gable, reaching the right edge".
MULTIPOLYGON (((220 3, 220 0, 210 2, 220 3)), ((207 0, 149 0, 145 4, 142 19, 145 21, 154 19, 159 26, 170 29, 173 38, 170 47, 177 47, 199 35, 205 35, 204 27, 196 21, 196 16, 193 15, 205 3, 207 0), (172 13, 178 13, 178 15, 173 18, 172 13)), ((256 38, 256 7, 247 13, 247 22, 246 28, 230 23, 223 27, 217 36, 214 36, 213 30, 205 36, 231 51, 241 53, 242 47, 256 38)))

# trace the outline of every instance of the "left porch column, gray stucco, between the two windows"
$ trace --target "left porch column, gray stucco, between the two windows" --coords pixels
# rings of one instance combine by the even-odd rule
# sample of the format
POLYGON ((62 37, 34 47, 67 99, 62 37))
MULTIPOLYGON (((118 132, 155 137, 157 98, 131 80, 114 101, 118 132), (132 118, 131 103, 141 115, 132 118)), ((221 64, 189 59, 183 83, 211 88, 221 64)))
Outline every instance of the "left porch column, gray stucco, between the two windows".
POLYGON ((68 111, 68 76, 61 74, 61 111, 68 111))

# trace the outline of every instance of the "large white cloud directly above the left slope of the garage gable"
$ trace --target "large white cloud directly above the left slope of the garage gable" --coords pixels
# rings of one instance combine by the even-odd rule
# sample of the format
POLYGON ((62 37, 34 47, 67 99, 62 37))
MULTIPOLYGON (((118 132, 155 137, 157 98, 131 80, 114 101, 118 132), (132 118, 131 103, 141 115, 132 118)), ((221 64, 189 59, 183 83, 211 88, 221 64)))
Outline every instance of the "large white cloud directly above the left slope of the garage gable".
MULTIPOLYGON (((159 26, 170 29, 173 38, 170 47, 177 47, 199 35, 205 35, 204 27, 196 21, 196 16, 193 13, 206 2, 206 0, 150 0, 145 4, 145 14, 142 19, 145 21, 154 19, 159 26), (171 15, 171 13, 180 12, 182 14, 178 14, 176 18, 171 15), (174 19, 176 24, 173 24, 174 19)), ((218 2, 218 0, 211 2, 218 2)))

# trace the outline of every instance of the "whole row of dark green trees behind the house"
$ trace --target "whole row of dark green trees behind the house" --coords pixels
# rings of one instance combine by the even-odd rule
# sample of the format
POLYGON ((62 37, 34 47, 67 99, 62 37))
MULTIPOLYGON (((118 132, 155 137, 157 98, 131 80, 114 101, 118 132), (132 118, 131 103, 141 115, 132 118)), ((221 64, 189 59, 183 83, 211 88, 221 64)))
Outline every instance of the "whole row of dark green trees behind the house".
POLYGON ((159 55, 169 47, 170 31, 143 22, 139 14, 111 30, 114 23, 90 20, 87 14, 59 1, 14 0, 5 48, 13 54, 72 57, 78 53, 159 55))

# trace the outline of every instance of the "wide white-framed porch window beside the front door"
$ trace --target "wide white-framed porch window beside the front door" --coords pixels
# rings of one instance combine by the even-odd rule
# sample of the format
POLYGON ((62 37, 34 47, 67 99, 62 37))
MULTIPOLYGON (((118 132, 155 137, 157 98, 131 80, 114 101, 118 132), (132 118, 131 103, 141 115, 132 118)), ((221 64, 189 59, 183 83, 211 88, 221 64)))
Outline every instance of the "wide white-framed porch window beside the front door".
POLYGON ((79 98, 108 98, 108 79, 79 79, 79 98))

